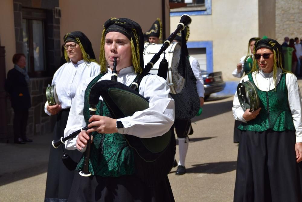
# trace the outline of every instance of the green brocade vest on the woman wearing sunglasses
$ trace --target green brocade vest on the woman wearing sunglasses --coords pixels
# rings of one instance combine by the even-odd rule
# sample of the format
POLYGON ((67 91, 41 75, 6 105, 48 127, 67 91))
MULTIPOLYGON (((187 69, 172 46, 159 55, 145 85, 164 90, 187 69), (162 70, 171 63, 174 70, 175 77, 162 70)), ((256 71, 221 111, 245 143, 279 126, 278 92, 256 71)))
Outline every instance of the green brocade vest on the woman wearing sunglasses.
MULTIPOLYGON (((252 74, 248 74, 248 77, 254 83, 252 74)), ((286 74, 282 74, 276 88, 268 92, 256 88, 260 100, 260 113, 255 119, 239 125, 238 129, 257 132, 268 129, 273 131, 295 130, 293 117, 288 105, 288 90, 285 77, 286 74)))

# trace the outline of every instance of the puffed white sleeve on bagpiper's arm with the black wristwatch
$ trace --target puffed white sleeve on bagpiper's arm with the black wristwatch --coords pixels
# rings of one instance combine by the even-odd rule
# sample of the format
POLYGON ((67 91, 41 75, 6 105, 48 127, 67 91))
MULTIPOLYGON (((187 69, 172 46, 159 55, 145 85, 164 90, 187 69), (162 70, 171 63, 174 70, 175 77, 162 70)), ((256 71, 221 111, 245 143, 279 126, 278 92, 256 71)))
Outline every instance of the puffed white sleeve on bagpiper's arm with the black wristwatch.
POLYGON ((174 123, 174 100, 167 82, 156 75, 145 76, 139 93, 149 100, 149 108, 133 116, 117 119, 124 125, 123 134, 150 138, 165 134, 174 123))

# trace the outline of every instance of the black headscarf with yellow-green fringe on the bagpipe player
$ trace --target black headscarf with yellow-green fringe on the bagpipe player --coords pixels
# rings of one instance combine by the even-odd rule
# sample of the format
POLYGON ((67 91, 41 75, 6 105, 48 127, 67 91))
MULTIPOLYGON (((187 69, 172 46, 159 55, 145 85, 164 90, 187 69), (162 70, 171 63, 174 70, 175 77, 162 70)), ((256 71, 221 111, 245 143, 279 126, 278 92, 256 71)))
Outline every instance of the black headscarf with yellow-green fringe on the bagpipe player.
POLYGON ((132 64, 135 72, 141 73, 144 69, 144 35, 140 25, 128 18, 110 18, 104 24, 104 30, 101 39, 100 63, 101 72, 105 72, 106 59, 104 52, 105 36, 108 32, 116 31, 124 34, 131 42, 132 64))

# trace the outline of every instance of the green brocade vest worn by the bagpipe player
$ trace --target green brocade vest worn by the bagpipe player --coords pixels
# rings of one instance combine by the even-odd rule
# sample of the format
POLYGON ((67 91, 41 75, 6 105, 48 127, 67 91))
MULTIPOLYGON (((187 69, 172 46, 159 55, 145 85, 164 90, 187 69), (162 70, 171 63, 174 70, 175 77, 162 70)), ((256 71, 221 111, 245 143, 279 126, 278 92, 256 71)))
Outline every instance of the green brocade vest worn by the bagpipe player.
MULTIPOLYGON (((83 115, 86 124, 89 119, 89 93, 93 84, 104 74, 95 77, 85 91, 83 115)), ((108 116, 109 110, 102 100, 99 100, 96 115, 108 116)), ((100 134, 93 132, 93 143, 90 147, 89 171, 92 175, 103 177, 119 177, 131 175, 135 172, 133 149, 129 147, 124 135, 119 133, 100 134)), ((84 165, 84 156, 81 158, 76 170, 81 171, 84 165)))

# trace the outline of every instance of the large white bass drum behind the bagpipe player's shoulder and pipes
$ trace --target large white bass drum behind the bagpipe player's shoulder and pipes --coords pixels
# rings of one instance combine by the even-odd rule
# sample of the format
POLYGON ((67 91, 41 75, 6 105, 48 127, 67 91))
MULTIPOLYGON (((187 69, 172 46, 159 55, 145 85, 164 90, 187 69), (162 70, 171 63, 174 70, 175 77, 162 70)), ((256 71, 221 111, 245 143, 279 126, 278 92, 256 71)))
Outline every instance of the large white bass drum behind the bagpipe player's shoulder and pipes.
MULTIPOLYGON (((150 44, 145 43, 144 47, 144 65, 147 65, 152 57, 158 53, 162 44, 150 44)), ((177 66, 180 58, 181 47, 177 42, 172 43, 165 50, 165 57, 168 62, 168 75, 167 82, 170 86, 171 93, 177 94, 182 91, 185 86, 185 79, 177 72, 177 66)), ((158 72, 159 63, 164 58, 164 53, 160 55, 159 60, 154 64, 153 68, 150 70, 150 73, 156 74, 158 72)))

